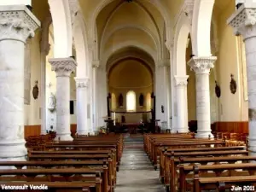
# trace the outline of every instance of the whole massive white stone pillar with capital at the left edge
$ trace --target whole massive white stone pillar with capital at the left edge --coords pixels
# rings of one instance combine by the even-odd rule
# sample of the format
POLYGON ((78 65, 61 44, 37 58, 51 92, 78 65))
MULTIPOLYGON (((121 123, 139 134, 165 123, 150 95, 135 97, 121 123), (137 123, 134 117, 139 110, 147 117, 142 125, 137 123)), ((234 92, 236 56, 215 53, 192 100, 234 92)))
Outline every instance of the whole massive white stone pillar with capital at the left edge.
POLYGON ((26 160, 24 57, 39 20, 25 5, 0 6, 0 160, 26 160))

